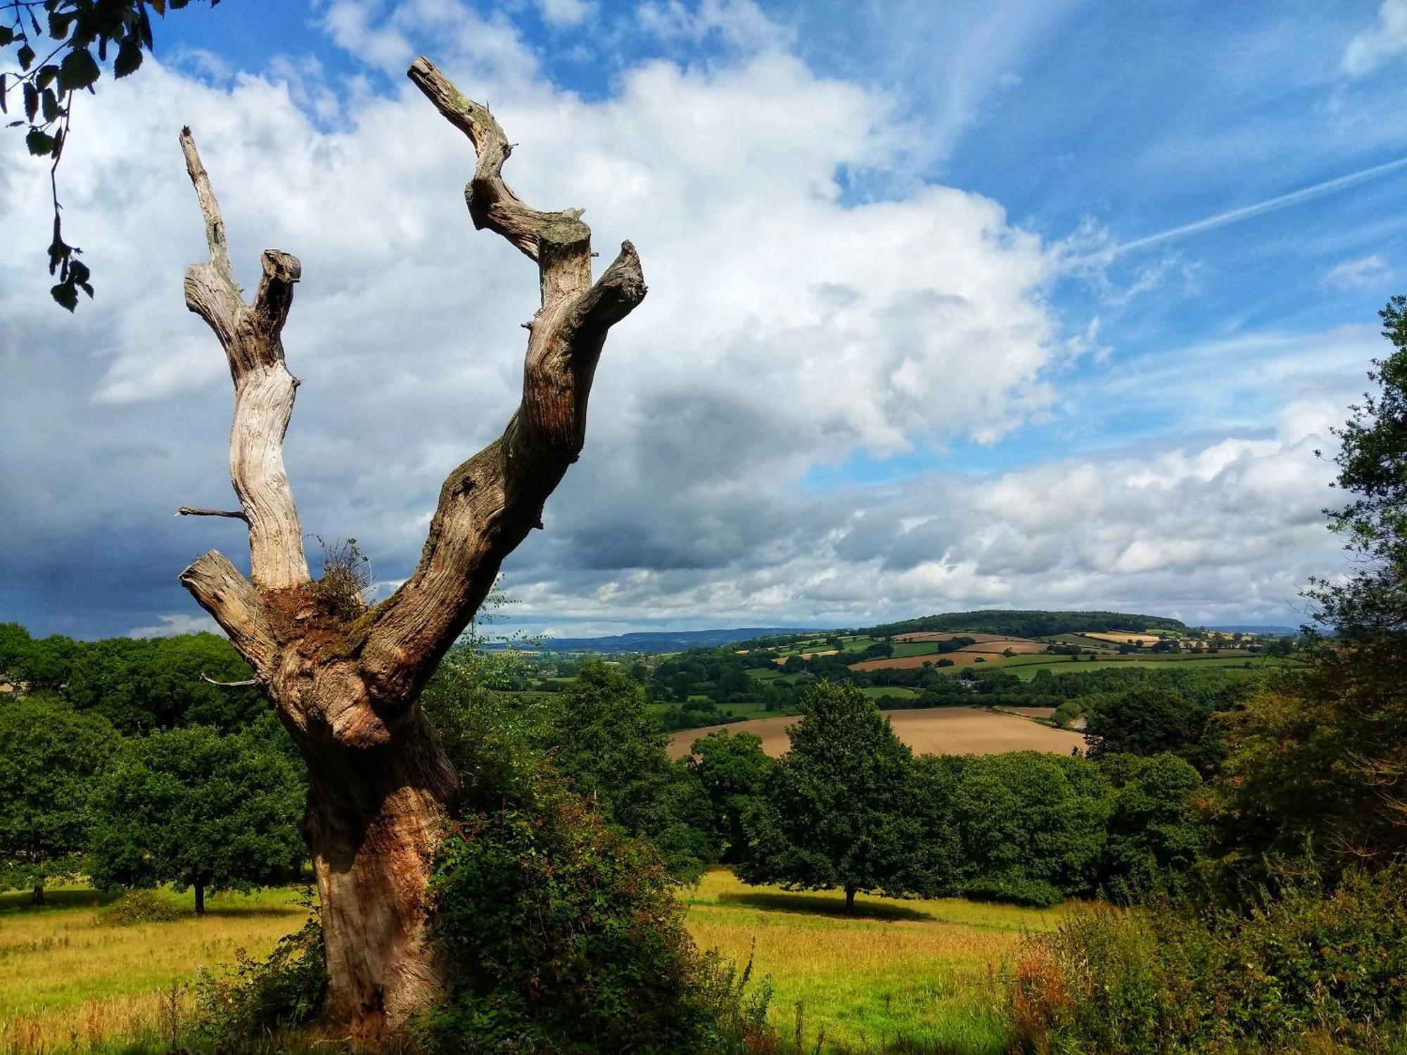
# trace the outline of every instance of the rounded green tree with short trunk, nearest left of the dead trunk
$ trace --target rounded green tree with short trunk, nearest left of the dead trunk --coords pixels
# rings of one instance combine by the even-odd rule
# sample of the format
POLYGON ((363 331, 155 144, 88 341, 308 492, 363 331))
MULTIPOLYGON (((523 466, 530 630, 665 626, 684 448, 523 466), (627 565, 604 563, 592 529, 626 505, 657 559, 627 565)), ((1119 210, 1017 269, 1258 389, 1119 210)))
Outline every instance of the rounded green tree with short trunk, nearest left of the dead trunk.
POLYGON ((297 874, 303 791, 293 764, 249 736, 205 726, 128 743, 97 791, 98 886, 249 889, 297 874))

